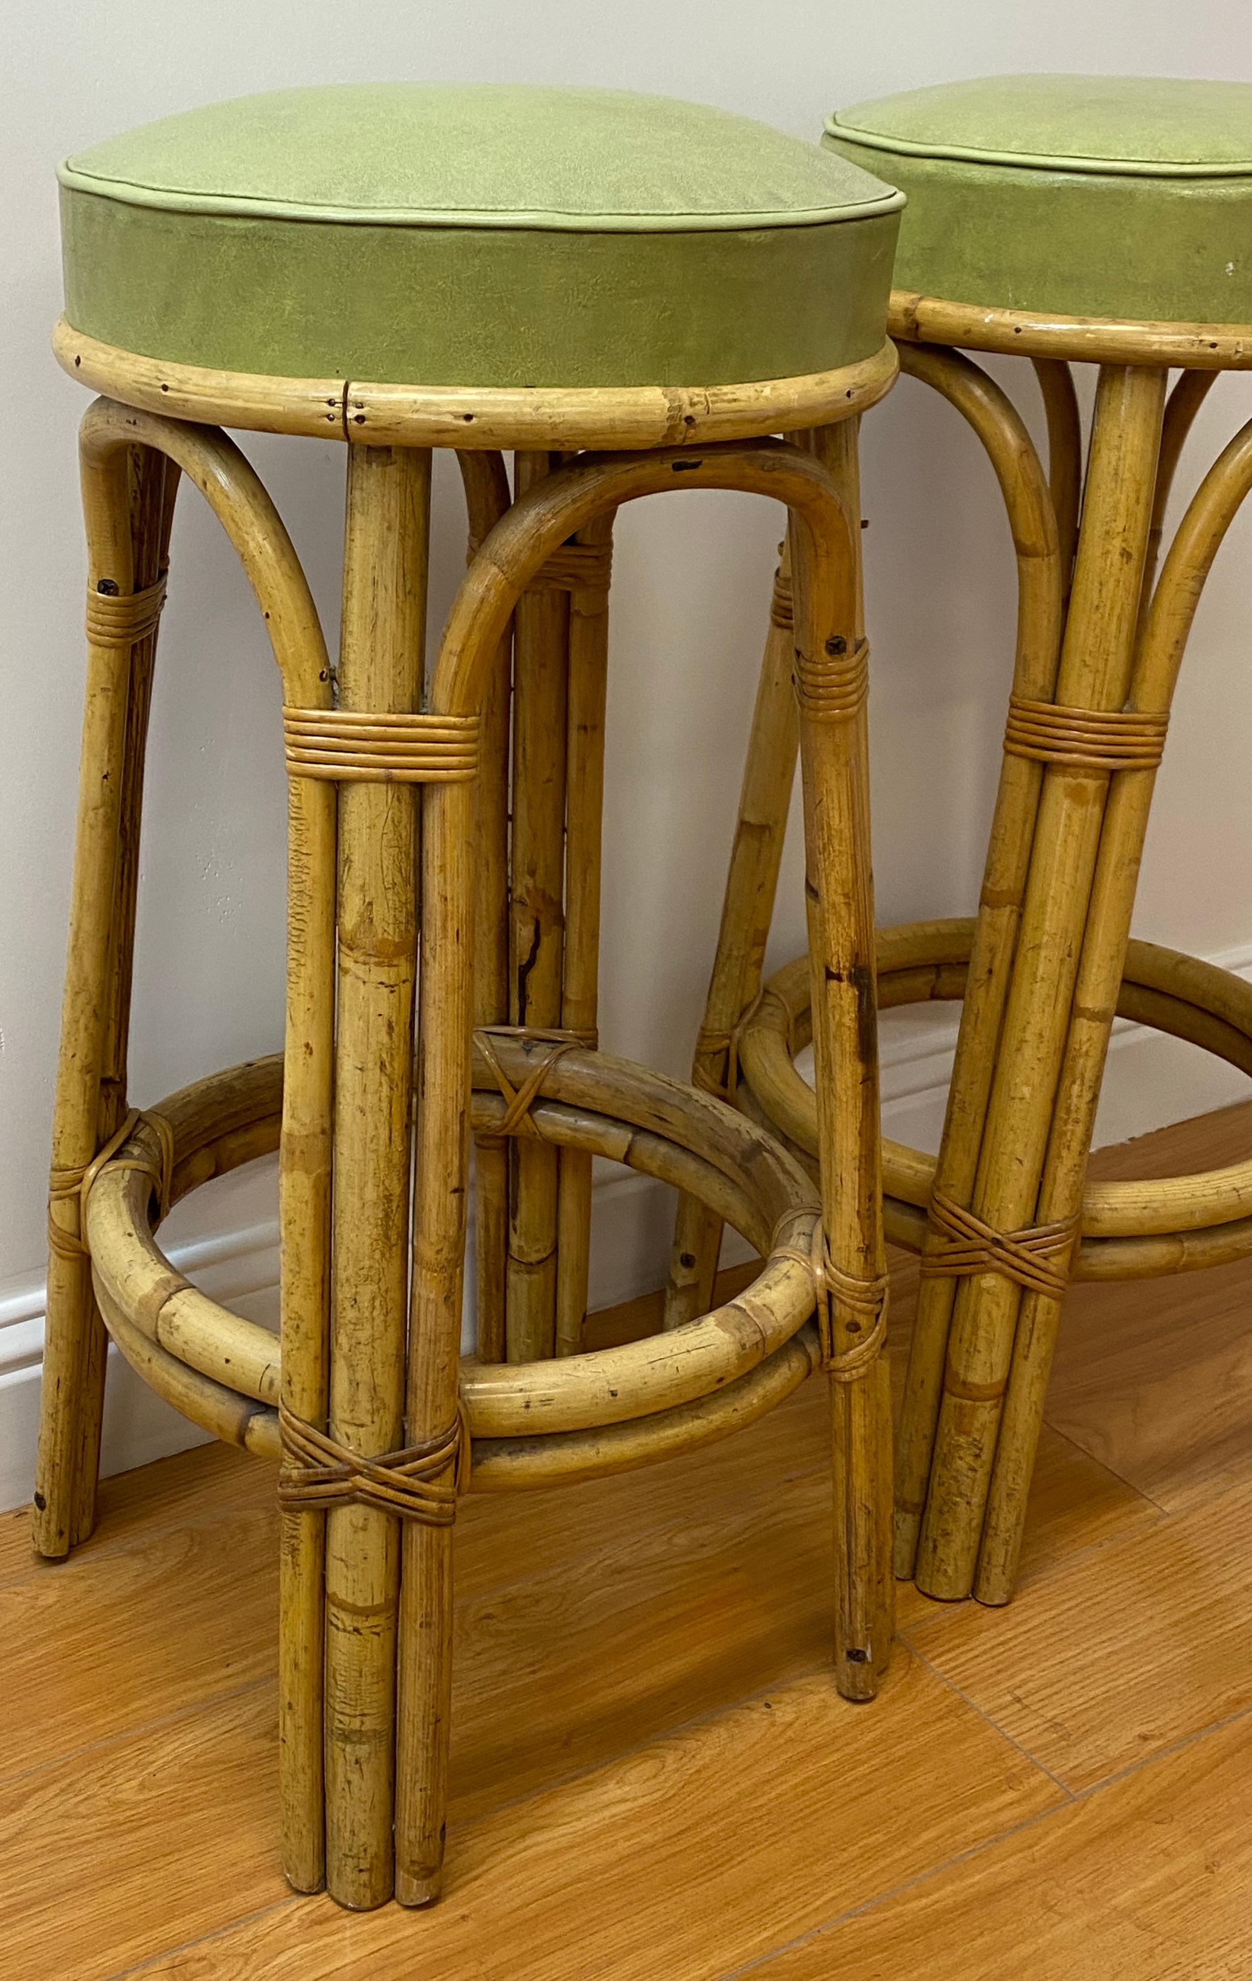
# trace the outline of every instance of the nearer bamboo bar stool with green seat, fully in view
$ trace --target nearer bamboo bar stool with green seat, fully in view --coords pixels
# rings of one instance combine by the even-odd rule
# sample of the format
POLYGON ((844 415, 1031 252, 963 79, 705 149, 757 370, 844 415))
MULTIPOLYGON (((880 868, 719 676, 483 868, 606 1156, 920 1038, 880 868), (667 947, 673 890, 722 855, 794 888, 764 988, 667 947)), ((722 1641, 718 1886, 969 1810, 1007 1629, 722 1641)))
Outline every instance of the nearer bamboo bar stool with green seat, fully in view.
POLYGON ((55 351, 105 396, 81 430, 87 707, 36 1543, 63 1555, 91 1531, 107 1337, 194 1422, 279 1460, 285 1870, 347 1906, 426 1904, 462 1492, 689 1450, 822 1369, 838 1686, 872 1698, 886 1668, 854 491, 858 416, 895 376, 901 200, 719 111, 454 85, 194 111, 71 160, 61 188, 55 351), (347 444, 335 670, 291 541, 222 426, 347 444), (460 456, 471 559, 426 679, 434 448, 460 456), (143 751, 180 477, 238 551, 283 681, 287 1036, 281 1064, 137 1111, 143 751), (820 1193, 717 1097, 594 1042, 608 539, 622 503, 681 487, 788 511, 818 1060, 856 1064, 822 1117, 820 1193), (483 1313, 458 1363, 471 1133, 483 1313), (156 1242, 172 1202, 275 1147, 279 1339, 188 1286, 156 1242), (509 1147, 527 1157, 511 1189, 509 1147), (679 1335, 555 1359, 555 1276, 527 1272, 551 1244, 507 1226, 527 1200, 551 1224, 555 1185, 580 1260, 594 1155, 693 1193, 763 1264, 679 1335))

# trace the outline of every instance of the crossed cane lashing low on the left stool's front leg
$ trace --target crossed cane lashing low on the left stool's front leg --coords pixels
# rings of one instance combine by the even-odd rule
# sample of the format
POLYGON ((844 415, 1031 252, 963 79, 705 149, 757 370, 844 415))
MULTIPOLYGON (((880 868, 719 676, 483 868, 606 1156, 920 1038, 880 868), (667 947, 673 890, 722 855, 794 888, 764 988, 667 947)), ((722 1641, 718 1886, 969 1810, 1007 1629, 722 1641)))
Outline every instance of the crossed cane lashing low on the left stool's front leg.
POLYGON ((363 1458, 337 1438, 277 1407, 283 1448, 277 1498, 297 1512, 329 1512, 335 1506, 372 1506, 424 1527, 452 1527, 456 1502, 470 1492, 470 1422, 466 1407, 446 1430, 400 1452, 363 1458))

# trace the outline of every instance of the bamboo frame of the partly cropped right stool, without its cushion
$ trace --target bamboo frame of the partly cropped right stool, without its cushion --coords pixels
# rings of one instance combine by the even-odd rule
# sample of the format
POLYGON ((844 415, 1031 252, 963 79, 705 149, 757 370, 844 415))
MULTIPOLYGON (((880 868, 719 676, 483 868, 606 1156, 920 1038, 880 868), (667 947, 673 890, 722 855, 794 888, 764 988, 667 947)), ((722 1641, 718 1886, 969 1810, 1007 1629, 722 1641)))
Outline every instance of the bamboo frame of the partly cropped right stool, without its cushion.
MULTIPOLYGON (((1252 487, 1252 422, 1200 481, 1157 576, 1165 507, 1216 374, 1252 368, 1252 327, 1040 319, 895 291, 889 331, 901 370, 983 442, 1018 571, 1014 701, 979 915, 878 939, 886 1002, 963 998, 937 1161, 884 1145, 887 1232, 921 1252, 895 1573, 927 1595, 1006 1603, 1068 1278, 1252 1252, 1252 1161, 1086 1189, 1115 1014, 1252 1072, 1246 987, 1129 937, 1155 759, 1202 584, 1252 487), (959 347, 1032 361, 1046 469, 1008 396, 959 347), (1086 475, 1072 363, 1099 366, 1086 475), (1050 705, 1060 745, 1046 735, 1050 705), (1024 1256, 1032 1240, 1042 1266, 1024 1256)), ((792 1066, 808 1038, 802 990, 794 969, 761 985, 794 779, 777 638, 775 624, 693 1080, 808 1153, 814 1103, 792 1066)), ((707 1214, 679 1204, 668 1325, 699 1305, 715 1242, 707 1214)))

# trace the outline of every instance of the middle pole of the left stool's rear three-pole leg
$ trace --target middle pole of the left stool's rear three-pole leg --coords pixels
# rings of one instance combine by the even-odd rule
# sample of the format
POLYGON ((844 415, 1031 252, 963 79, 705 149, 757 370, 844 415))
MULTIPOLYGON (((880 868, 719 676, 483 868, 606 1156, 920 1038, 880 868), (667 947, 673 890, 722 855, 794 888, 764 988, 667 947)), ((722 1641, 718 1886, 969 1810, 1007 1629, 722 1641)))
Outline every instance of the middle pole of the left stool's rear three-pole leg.
MULTIPOLYGON (((551 466, 547 454, 519 454, 517 495, 551 466)), ((509 1016, 537 1030, 561 1024, 569 610, 569 592, 523 592, 513 632, 509 1016)), ((555 1353, 557 1167, 555 1149, 537 1141, 511 1151, 509 1361, 555 1353)))

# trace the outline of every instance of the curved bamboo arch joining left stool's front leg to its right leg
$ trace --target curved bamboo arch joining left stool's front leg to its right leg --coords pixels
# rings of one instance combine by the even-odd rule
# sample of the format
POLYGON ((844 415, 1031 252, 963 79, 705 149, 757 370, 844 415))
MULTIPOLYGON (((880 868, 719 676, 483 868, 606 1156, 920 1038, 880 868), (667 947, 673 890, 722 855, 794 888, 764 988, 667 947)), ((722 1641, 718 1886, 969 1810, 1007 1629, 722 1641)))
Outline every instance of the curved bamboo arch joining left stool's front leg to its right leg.
MULTIPOLYGON (((844 410, 856 410, 848 386, 844 410)), ((832 418, 826 412, 824 418, 832 418)), ((771 422, 773 424, 773 422, 771 422)), ((786 420, 786 424, 792 424, 786 420)), ((790 509, 796 567, 796 668, 822 674, 840 654, 854 656, 858 535, 822 466, 775 442, 727 448, 687 446, 644 456, 584 458, 537 481, 481 545, 448 616, 434 672, 432 709, 475 713, 491 656, 521 590, 569 537, 598 517, 666 487, 731 487, 771 493, 790 509)), ((864 790, 864 711, 860 719, 808 723, 814 969, 824 987, 818 1058, 862 1062, 824 1133, 828 1161, 822 1222, 830 1258, 854 1282, 884 1272, 878 1202, 878 1082, 872 998, 872 895, 864 790), (816 834, 816 838, 814 838, 816 834), (856 874, 852 884, 850 874, 856 874), (830 897, 836 886, 844 889, 830 897)), ((422 941, 418 1022, 416 1216, 410 1302, 406 1438, 440 1434, 458 1408, 458 1335, 466 1244, 464 1179, 470 1149, 471 987, 466 959, 473 939, 473 798, 466 784, 424 792, 422 941), (452 1187, 450 1187, 452 1183, 452 1187)), ((830 1302, 832 1353, 858 1341, 864 1311, 830 1302)), ((567 1367, 578 1363, 571 1357, 567 1367)), ((541 1365, 551 1369, 561 1365, 541 1365)), ((495 1371, 487 1371, 495 1375, 495 1371)), ((866 1361, 864 1377, 834 1385, 836 1543, 840 1573, 836 1670, 840 1688, 872 1696, 889 1644, 889 1579, 878 1547, 887 1480, 880 1464, 882 1418, 889 1405, 886 1365, 866 1361)), ((450 1696, 452 1557, 448 1535, 406 1523, 400 1615, 396 1896, 424 1904, 438 1890, 442 1862, 446 1725, 450 1696), (442 1646, 440 1656, 420 1654, 442 1646)))

